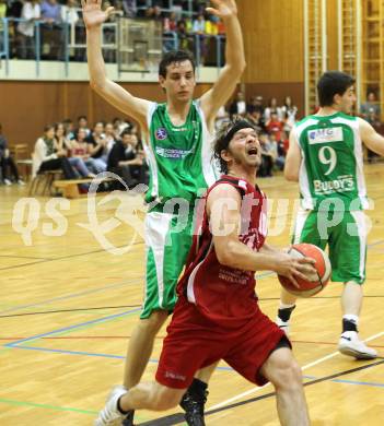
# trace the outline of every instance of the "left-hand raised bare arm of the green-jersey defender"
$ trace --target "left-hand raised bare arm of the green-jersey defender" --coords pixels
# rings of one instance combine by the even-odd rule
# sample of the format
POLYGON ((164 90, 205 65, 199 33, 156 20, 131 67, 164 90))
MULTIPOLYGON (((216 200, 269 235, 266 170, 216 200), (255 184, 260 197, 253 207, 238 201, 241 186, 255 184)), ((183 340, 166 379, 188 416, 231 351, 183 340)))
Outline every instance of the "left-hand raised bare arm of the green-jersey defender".
POLYGON ((82 0, 81 3, 86 26, 86 55, 92 88, 114 107, 135 118, 141 128, 147 131, 147 113, 150 103, 132 96, 106 75, 101 46, 101 25, 114 12, 114 8, 102 11, 101 0, 82 0))

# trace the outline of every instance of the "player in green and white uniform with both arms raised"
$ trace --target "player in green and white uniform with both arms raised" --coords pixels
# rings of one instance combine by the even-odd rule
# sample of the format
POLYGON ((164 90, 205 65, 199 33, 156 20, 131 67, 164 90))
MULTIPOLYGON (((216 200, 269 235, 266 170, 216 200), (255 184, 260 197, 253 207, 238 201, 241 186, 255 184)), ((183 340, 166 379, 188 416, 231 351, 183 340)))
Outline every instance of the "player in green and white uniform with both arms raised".
MULTIPOLYGON (((152 208, 146 218, 146 297, 127 352, 124 384, 128 389, 140 381, 154 338, 174 308, 175 285, 191 244, 190 212, 200 190, 216 180, 210 164, 210 132, 216 114, 232 95, 245 68, 235 1, 212 0, 211 3, 213 8, 207 8, 207 12, 221 19, 226 29, 226 63, 218 80, 199 99, 193 100, 194 60, 184 51, 168 52, 159 67, 159 82, 165 92, 166 104, 155 104, 133 96, 107 78, 101 48, 101 24, 113 13, 113 8, 103 11, 101 0, 82 0, 91 86, 139 122, 147 140, 151 173, 147 193, 152 208), (188 211, 183 226, 172 213, 176 198, 179 210, 188 211)), ((206 382, 212 370, 210 367, 201 370, 182 401, 190 425, 203 425, 206 382)), ((113 421, 98 419, 97 424, 107 425, 113 421)))

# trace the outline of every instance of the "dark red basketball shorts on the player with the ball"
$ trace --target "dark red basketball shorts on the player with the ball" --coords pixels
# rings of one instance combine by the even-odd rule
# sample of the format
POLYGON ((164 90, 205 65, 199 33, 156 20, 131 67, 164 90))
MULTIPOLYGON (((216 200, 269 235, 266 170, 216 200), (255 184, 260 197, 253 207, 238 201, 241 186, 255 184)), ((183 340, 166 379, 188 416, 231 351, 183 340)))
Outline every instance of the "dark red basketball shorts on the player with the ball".
POLYGON ((263 386, 268 380, 259 369, 284 335, 259 309, 233 329, 212 323, 195 305, 179 299, 163 342, 156 380, 168 388, 186 389, 198 369, 223 359, 247 380, 263 386))

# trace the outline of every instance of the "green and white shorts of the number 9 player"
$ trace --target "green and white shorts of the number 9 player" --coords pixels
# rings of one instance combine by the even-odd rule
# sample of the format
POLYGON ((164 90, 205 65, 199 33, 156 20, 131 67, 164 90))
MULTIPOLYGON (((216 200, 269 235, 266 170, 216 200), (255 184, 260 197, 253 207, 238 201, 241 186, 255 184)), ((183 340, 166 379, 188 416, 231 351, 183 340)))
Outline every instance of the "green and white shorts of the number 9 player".
POLYGON ((293 244, 328 245, 331 281, 363 284, 366 260, 366 216, 363 211, 317 212, 299 210, 293 244))

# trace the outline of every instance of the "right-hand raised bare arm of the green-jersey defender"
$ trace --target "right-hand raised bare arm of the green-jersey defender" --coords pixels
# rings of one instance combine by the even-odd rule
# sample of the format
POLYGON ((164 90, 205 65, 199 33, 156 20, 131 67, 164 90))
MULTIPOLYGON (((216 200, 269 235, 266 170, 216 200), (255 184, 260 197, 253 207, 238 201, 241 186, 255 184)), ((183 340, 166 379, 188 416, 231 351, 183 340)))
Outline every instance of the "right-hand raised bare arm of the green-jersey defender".
POLYGON ((201 108, 209 126, 222 105, 225 105, 245 68, 242 28, 237 19, 234 0, 211 0, 216 8, 207 8, 207 12, 223 20, 226 32, 225 66, 217 82, 201 96, 201 108))

